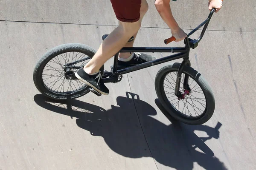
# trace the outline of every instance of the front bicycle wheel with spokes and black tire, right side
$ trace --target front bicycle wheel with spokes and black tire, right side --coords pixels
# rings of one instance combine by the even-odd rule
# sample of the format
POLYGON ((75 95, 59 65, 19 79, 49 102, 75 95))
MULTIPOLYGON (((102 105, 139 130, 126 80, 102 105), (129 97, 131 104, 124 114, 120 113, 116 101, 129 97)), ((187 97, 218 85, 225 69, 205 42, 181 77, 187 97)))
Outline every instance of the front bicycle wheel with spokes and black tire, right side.
POLYGON ((155 78, 157 96, 168 113, 180 122, 201 125, 207 122, 215 110, 215 99, 211 88, 196 70, 185 66, 181 75, 180 92, 182 98, 175 96, 177 71, 180 63, 162 68, 155 78), (189 90, 183 88, 185 75, 189 76, 189 90))

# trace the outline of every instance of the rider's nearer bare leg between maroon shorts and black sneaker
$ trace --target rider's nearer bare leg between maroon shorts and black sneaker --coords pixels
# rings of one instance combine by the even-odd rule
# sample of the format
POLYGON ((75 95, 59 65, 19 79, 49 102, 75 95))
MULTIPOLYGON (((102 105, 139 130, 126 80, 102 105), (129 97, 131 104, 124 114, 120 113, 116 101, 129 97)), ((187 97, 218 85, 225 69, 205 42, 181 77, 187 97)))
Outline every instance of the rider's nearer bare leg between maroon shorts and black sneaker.
POLYGON ((120 21, 120 25, 102 42, 93 58, 84 66, 87 74, 99 72, 108 59, 113 57, 140 29, 141 20, 134 23, 120 21))

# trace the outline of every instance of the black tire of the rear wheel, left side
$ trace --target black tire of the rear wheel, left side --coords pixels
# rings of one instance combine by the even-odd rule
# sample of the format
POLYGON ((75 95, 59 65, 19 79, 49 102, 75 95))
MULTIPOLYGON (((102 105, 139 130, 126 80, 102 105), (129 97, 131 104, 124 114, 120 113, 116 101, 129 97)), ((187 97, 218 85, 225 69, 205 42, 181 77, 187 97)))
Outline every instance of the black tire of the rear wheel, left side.
MULTIPOLYGON (((90 46, 79 44, 79 43, 62 44, 47 51, 47 53, 45 53, 41 57, 41 59, 38 61, 33 72, 33 81, 34 81, 35 87, 38 89, 38 91, 41 92, 41 94, 51 99, 67 100, 67 99, 79 98, 90 92, 89 87, 87 87, 87 88, 84 88, 83 91, 78 91, 77 93, 71 94, 70 96, 66 95, 67 97, 65 98, 63 96, 62 97, 56 96, 56 94, 52 93, 44 86, 44 82, 42 79, 42 72, 47 62, 49 62, 50 59, 52 59, 53 57, 56 57, 59 54, 63 54, 66 52, 73 52, 73 51, 81 52, 83 54, 86 54, 88 57, 93 57, 93 55, 96 53, 96 51, 90 46)), ((104 65, 102 65, 100 70, 103 74, 104 65)))

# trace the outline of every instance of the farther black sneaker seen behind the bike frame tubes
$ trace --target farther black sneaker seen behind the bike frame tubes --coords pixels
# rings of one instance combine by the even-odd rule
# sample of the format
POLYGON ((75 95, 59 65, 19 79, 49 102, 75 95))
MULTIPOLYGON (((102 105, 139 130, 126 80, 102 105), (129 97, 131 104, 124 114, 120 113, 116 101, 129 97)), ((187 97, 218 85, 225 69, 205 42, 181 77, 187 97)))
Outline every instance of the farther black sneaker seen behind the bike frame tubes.
MULTIPOLYGON (((120 61, 117 62, 117 70, 122 70, 127 67, 131 67, 134 65, 139 65, 144 62, 152 61, 157 59, 154 56, 143 54, 143 53, 134 53, 134 56, 130 61, 120 61)), ((113 69, 113 65, 111 65, 111 69, 113 69)))

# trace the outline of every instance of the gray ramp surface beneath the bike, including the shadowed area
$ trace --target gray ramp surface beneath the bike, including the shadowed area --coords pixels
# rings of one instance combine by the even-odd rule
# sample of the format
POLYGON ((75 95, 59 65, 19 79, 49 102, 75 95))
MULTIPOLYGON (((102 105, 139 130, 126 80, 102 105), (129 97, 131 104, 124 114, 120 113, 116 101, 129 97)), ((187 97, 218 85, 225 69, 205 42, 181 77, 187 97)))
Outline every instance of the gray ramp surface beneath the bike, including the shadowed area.
MULTIPOLYGON (((170 31, 148 3, 135 46, 166 46, 170 31)), ((209 13, 199 0, 172 6, 187 33, 209 13)), ((0 1, 0 170, 256 169, 255 6, 255 0, 224 1, 191 51, 216 108, 206 124, 189 126, 175 123, 154 91, 157 71, 169 63, 107 84, 108 96, 55 102, 35 88, 33 69, 46 51, 69 42, 97 49, 118 25, 107 1, 0 1)))

